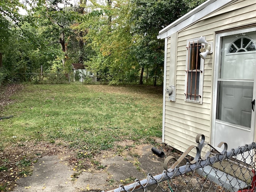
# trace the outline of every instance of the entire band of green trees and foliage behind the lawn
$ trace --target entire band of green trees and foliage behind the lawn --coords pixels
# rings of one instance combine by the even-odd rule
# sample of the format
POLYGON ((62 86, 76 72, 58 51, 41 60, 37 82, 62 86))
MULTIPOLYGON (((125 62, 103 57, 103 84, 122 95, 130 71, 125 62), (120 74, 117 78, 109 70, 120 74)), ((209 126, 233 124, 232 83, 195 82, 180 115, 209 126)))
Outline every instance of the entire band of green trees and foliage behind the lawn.
POLYGON ((41 67, 68 74, 78 62, 101 82, 138 82, 144 72, 154 85, 161 83, 164 42, 157 40, 158 31, 204 0, 60 2, 32 0, 21 16, 18 8, 26 6, 19 0, 0 1, 0 84, 28 81, 41 67))

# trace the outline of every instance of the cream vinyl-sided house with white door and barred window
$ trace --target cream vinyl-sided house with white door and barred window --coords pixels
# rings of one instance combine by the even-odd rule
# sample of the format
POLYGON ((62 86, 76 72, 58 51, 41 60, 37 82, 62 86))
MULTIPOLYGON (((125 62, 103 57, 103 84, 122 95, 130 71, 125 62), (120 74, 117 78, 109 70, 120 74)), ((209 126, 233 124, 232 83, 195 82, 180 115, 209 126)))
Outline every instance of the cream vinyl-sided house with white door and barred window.
MULTIPOLYGON (((232 96, 230 92, 233 90, 242 92, 243 98, 248 102, 256 98, 254 77, 247 77, 250 71, 253 74, 256 72, 256 2, 208 0, 161 30, 158 38, 165 40, 164 90, 169 86, 173 90, 170 96, 164 93, 163 142, 184 152, 190 145, 196 145, 197 134, 204 134, 206 142, 214 147, 220 141, 227 142, 230 148, 238 147, 236 144, 255 141, 254 110, 250 111, 247 108, 241 109, 242 112, 236 112, 232 110, 232 102, 230 106, 224 105, 228 94, 232 99, 240 97, 232 96), (199 45, 197 40, 201 36, 210 43, 211 52, 205 60, 198 58, 201 59, 201 68, 200 72, 194 74, 200 76, 200 79, 195 81, 200 96, 198 100, 188 100, 188 42, 191 43, 193 40, 199 45), (241 51, 238 42, 242 42, 241 51), (236 50, 232 52, 234 46, 236 50), (236 64, 238 61, 241 61, 241 64, 236 64), (232 66, 237 69, 241 66, 243 71, 239 72, 232 66), (228 67, 233 72, 227 72, 228 67), (235 77, 231 77, 232 73, 235 77), (243 74, 243 77, 237 80, 236 76, 239 75, 236 73, 243 74), (243 85, 242 88, 240 85, 243 85), (253 95, 252 98, 247 96, 249 94, 253 95), (231 120, 240 112, 244 115, 240 115, 240 122, 231 120), (228 114, 232 118, 226 118, 228 114), (251 123, 244 123, 243 119, 250 119, 251 123)), ((200 46, 206 47, 206 44, 202 43, 200 46)), ((192 87, 194 88, 194 85, 192 87)), ((249 106, 250 103, 246 105, 249 106)))

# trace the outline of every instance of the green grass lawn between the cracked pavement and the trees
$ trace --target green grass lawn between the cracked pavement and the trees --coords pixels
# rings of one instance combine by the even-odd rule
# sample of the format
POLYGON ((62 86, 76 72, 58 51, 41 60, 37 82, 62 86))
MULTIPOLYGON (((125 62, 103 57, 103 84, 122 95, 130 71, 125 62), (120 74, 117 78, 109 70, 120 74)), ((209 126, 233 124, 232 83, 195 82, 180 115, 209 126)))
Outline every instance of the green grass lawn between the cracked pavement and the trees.
POLYGON ((18 142, 54 143, 94 152, 116 142, 162 136, 162 89, 85 84, 26 85, 0 108, 0 148, 18 142))

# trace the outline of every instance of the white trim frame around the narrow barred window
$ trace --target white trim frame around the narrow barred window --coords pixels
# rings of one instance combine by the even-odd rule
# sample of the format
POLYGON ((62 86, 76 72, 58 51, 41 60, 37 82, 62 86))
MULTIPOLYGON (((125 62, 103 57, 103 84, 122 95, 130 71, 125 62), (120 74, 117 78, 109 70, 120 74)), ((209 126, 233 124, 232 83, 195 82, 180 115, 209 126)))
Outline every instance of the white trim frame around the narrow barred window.
MULTIPOLYGON (((200 37, 198 38, 194 38, 194 39, 189 39, 187 40, 187 47, 189 46, 189 42, 197 42, 199 40, 200 37)), ((204 43, 202 43, 203 46, 205 46, 204 43)), ((186 70, 188 69, 188 49, 186 51, 186 70)), ((199 97, 199 100, 198 101, 195 101, 195 100, 190 100, 190 99, 186 99, 186 94, 187 94, 187 84, 188 84, 188 73, 185 72, 185 92, 184 92, 184 100, 186 102, 192 102, 192 103, 199 103, 199 104, 202 104, 202 100, 203 100, 203 83, 204 83, 204 60, 199 57, 200 60, 201 60, 201 64, 200 64, 200 70, 202 71, 200 73, 200 79, 199 79, 199 94, 200 94, 200 97, 199 97)))

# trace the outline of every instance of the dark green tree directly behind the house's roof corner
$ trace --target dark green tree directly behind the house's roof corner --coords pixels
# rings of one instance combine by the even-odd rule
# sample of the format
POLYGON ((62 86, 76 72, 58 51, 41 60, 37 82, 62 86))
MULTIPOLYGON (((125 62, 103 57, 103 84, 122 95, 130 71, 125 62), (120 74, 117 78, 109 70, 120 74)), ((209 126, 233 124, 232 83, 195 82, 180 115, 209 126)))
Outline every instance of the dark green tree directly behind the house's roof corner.
MULTIPOLYGON (((143 84, 144 68, 154 76, 162 76, 164 42, 157 40, 158 32, 186 13, 181 0, 132 0, 132 33, 136 39, 134 54, 139 60, 140 84, 143 84)), ((156 78, 154 81, 156 85, 156 78)))

